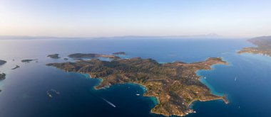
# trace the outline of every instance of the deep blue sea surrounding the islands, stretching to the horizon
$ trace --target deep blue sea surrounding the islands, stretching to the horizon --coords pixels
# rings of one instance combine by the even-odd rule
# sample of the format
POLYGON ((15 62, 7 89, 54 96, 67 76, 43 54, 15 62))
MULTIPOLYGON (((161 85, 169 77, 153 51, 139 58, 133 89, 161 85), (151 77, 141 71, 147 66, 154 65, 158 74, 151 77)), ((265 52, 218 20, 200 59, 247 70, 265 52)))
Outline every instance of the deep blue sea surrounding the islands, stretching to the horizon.
POLYGON ((0 40, 0 60, 7 61, 0 66, 0 72, 6 73, 6 79, 0 81, 0 117, 160 117, 150 113, 157 103, 155 98, 143 97, 145 89, 137 84, 95 90, 100 79, 46 66, 49 62, 65 62, 63 57, 75 52, 119 51, 127 53, 123 57, 153 58, 161 63, 223 57, 229 65, 215 65, 212 70, 198 71, 198 75, 213 94, 227 94, 230 104, 195 101, 191 108, 197 113, 188 117, 270 117, 271 57, 236 53, 248 46, 254 45, 244 39, 0 40), (54 53, 62 58, 46 57, 54 53), (24 59, 38 61, 22 63, 24 59), (16 65, 20 67, 12 70, 16 65), (60 94, 50 98, 46 94, 50 89, 60 94), (138 93, 140 96, 136 96, 138 93))

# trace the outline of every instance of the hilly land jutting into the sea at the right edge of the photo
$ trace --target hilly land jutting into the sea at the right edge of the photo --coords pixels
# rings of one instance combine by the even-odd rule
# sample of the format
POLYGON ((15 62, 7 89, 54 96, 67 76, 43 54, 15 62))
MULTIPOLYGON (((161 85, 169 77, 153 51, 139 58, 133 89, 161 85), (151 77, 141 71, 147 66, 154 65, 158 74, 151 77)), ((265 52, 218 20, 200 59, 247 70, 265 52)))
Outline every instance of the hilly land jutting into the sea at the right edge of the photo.
POLYGON ((271 56, 271 36, 257 37, 247 40, 257 47, 242 48, 238 53, 253 53, 271 56))

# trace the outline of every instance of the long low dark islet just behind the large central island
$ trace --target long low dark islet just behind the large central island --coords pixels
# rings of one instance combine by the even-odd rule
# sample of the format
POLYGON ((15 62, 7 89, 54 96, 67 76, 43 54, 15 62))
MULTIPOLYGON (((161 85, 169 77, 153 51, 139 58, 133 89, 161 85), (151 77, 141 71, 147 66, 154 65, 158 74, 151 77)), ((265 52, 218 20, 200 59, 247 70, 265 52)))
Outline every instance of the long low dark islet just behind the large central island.
POLYGON ((71 57, 73 59, 82 59, 82 58, 95 58, 95 57, 108 57, 111 59, 118 59, 119 57, 116 57, 115 55, 102 55, 102 54, 93 54, 93 53, 89 53, 89 54, 82 54, 82 53, 76 53, 76 54, 71 54, 68 55, 68 57, 71 57))

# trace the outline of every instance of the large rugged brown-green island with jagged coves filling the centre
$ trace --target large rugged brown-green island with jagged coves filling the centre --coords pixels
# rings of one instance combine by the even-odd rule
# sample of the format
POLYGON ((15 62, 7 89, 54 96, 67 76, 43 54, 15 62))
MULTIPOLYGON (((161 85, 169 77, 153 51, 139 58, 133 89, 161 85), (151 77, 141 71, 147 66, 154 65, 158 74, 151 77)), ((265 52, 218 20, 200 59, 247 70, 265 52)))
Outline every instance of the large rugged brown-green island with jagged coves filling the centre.
POLYGON ((200 82, 196 74, 199 69, 211 69, 212 65, 227 65, 220 57, 210 57, 203 62, 172 62, 160 64, 153 59, 140 57, 102 61, 98 59, 76 62, 48 63, 66 72, 89 74, 91 78, 101 78, 95 89, 110 87, 114 84, 133 83, 145 87, 143 96, 156 97, 158 104, 152 113, 164 116, 185 116, 193 113, 189 108, 193 101, 211 101, 225 96, 216 96, 200 82))

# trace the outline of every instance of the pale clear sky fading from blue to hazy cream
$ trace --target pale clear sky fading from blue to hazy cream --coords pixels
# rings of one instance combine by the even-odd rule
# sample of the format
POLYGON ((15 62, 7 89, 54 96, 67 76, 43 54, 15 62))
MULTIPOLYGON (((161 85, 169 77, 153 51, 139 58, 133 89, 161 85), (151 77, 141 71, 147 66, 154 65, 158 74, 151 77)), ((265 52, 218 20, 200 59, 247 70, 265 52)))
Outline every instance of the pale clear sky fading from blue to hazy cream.
POLYGON ((0 35, 271 35, 270 0, 0 0, 0 35))

